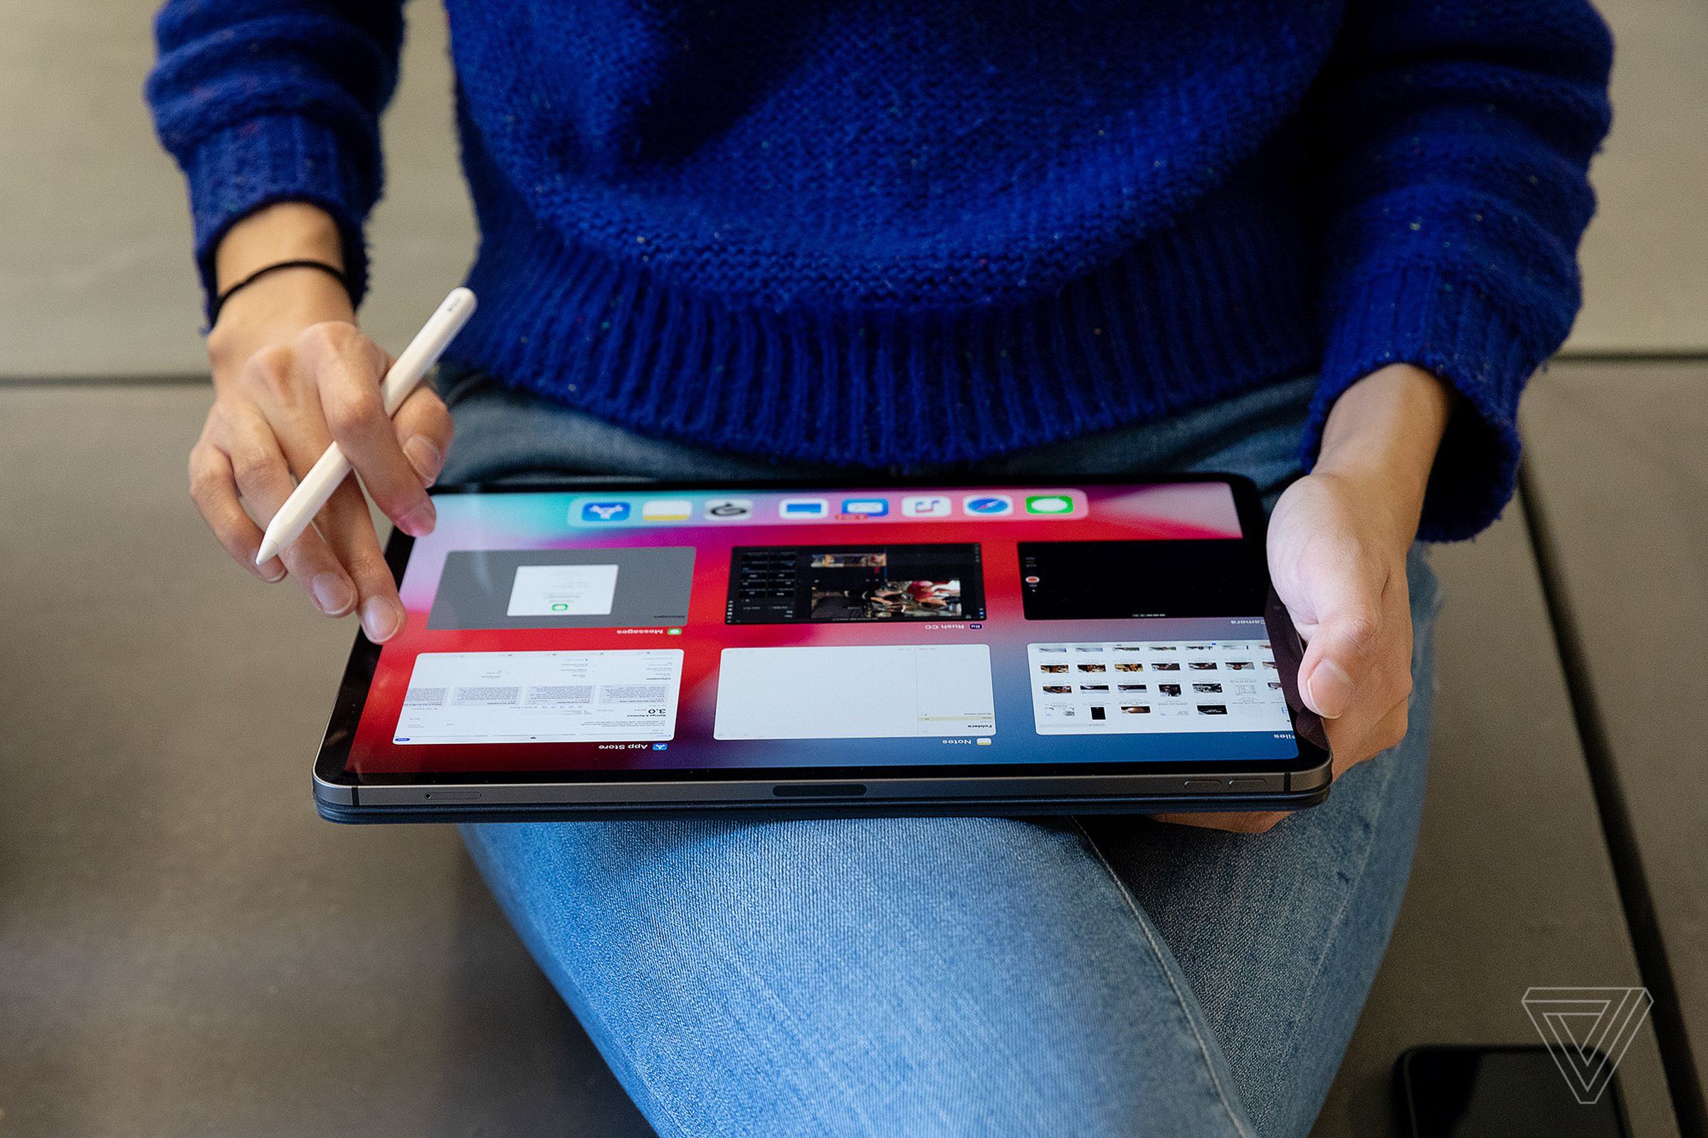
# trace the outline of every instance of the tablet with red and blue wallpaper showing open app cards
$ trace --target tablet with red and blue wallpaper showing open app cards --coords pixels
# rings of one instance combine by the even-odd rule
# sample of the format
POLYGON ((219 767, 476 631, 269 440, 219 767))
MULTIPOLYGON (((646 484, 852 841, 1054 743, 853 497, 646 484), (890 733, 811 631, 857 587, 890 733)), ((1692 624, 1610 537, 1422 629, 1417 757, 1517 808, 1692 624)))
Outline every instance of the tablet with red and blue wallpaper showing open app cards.
POLYGON ((335 821, 1290 809, 1329 787, 1235 476, 434 491, 335 821))

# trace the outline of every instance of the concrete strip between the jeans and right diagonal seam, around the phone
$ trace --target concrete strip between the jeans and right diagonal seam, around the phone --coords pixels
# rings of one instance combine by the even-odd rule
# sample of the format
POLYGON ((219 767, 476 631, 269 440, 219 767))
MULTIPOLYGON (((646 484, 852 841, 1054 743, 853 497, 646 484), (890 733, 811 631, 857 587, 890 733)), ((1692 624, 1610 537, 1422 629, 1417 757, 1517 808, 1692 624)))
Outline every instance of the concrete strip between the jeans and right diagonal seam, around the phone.
MULTIPOLYGON (((1399 925, 1313 1135, 1397 1133, 1430 1042, 1537 1042, 1525 988, 1643 983, 1518 505, 1435 551, 1447 607, 1430 798, 1399 925)), ((1619 1066, 1636 1135, 1676 1135, 1652 1025, 1619 1066)))

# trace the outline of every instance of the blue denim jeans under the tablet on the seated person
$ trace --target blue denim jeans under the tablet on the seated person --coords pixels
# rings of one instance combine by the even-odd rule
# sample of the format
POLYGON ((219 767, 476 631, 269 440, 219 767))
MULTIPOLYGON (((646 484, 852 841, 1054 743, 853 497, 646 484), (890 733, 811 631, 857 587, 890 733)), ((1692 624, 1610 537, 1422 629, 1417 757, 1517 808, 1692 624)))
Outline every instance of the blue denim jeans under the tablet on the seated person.
MULTIPOLYGON (((791 476, 451 375, 447 479, 791 476)), ((984 464, 1296 473, 1310 382, 984 464)), ((1271 498, 1272 500, 1272 498, 1271 498)), ((1387 945, 1411 730, 1267 834, 1146 817, 466 826, 487 884, 659 1135, 1305 1135, 1387 945)))

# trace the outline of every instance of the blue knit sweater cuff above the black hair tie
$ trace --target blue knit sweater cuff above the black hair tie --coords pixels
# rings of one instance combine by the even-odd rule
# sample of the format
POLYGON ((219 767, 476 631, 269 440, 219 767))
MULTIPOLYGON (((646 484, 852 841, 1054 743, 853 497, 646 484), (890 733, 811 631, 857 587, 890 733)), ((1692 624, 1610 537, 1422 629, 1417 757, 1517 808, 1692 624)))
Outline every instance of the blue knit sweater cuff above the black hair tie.
POLYGON ((348 147, 328 126, 272 114, 203 138, 188 162, 196 268, 212 302, 214 251, 232 225, 275 201, 307 201, 331 215, 343 235, 343 271, 352 302, 367 290, 362 217, 377 196, 377 177, 364 176, 348 147))

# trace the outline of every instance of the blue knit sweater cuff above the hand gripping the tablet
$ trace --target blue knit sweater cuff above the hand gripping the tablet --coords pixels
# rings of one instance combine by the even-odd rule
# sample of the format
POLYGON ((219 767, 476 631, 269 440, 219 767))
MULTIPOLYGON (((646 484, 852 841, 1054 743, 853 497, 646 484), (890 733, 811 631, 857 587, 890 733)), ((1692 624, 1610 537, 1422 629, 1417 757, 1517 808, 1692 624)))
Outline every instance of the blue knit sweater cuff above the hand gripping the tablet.
POLYGON ((1518 394, 1546 351, 1467 285, 1426 268, 1363 282, 1327 331, 1301 457, 1310 467, 1329 408, 1389 363, 1413 363, 1452 384, 1460 399, 1430 473, 1418 536, 1472 537, 1512 500, 1518 481, 1518 394))

